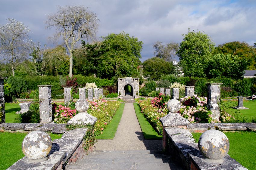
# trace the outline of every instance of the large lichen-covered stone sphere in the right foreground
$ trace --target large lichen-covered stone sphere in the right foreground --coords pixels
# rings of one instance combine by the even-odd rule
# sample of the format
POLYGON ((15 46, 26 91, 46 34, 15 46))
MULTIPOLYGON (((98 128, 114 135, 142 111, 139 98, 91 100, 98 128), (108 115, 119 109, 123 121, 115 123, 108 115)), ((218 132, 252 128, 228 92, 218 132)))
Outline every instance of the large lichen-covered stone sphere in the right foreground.
POLYGON ((201 134, 198 147, 207 158, 222 159, 229 151, 229 140, 223 132, 212 129, 201 134))

